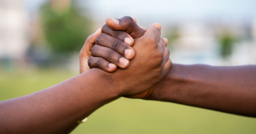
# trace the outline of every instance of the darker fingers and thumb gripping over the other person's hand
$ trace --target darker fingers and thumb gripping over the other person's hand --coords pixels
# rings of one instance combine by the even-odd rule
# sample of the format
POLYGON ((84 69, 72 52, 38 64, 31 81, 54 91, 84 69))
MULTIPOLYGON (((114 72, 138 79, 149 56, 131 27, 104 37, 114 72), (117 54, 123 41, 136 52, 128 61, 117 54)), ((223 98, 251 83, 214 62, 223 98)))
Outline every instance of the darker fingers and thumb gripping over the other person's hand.
MULTIPOLYGON (((161 30, 159 24, 155 23, 153 26, 161 30)), ((119 20, 108 18, 101 30, 103 34, 100 34, 99 38, 105 39, 102 42, 96 41, 97 45, 93 47, 92 57, 90 57, 88 62, 89 66, 91 68, 100 68, 107 72, 114 72, 116 70, 114 64, 121 69, 127 68, 130 64, 129 60, 132 60, 134 57, 134 51, 130 47, 133 46, 133 38, 141 37, 145 30, 137 25, 135 18, 129 16, 124 16, 119 20), (115 23, 118 23, 118 25, 115 23), (112 30, 108 26, 122 31, 112 30)), ((165 45, 167 45, 167 39, 163 39, 165 45)))

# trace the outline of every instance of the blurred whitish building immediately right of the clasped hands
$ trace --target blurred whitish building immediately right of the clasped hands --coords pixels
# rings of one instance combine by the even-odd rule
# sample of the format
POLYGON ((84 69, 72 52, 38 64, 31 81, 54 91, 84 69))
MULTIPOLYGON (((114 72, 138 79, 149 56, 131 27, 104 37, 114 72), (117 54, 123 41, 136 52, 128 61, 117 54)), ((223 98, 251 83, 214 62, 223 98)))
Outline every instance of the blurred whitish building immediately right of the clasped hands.
POLYGON ((179 38, 173 42, 171 58, 180 64, 217 64, 218 44, 212 27, 203 22, 179 24, 179 38))

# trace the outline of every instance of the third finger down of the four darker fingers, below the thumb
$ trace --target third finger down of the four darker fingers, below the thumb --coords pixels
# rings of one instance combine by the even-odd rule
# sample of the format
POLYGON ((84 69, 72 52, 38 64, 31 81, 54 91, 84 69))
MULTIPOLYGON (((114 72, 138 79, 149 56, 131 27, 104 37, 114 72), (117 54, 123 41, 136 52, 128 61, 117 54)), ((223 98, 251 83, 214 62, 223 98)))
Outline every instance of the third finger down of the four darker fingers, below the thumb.
POLYGON ((125 69, 130 65, 130 61, 123 57, 121 54, 117 53, 111 48, 95 45, 92 48, 92 56, 102 57, 107 61, 116 64, 119 68, 125 69))

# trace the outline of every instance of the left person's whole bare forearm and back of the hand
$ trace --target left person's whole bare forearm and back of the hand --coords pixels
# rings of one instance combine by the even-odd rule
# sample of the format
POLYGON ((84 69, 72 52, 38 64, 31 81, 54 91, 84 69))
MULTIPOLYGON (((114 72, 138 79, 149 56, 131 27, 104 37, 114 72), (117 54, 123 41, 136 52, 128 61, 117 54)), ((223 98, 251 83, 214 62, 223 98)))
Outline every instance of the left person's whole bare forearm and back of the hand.
POLYGON ((138 53, 127 69, 109 73, 93 68, 36 93, 0 102, 0 133, 59 133, 102 105, 150 89, 171 68, 159 29, 148 28, 134 40, 133 49, 138 53))

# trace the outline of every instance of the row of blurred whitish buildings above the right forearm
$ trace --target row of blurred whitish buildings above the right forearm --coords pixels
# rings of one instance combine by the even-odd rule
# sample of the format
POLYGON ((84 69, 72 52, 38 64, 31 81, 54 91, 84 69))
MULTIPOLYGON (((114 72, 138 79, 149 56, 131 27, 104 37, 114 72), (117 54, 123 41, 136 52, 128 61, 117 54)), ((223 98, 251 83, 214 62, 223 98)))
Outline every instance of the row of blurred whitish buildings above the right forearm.
POLYGON ((182 22, 175 27, 178 27, 178 38, 172 40, 170 54, 174 63, 256 64, 256 21, 242 24, 237 22, 182 22), (223 57, 220 38, 225 36, 226 32, 236 41, 226 48, 230 49, 231 53, 223 57))

